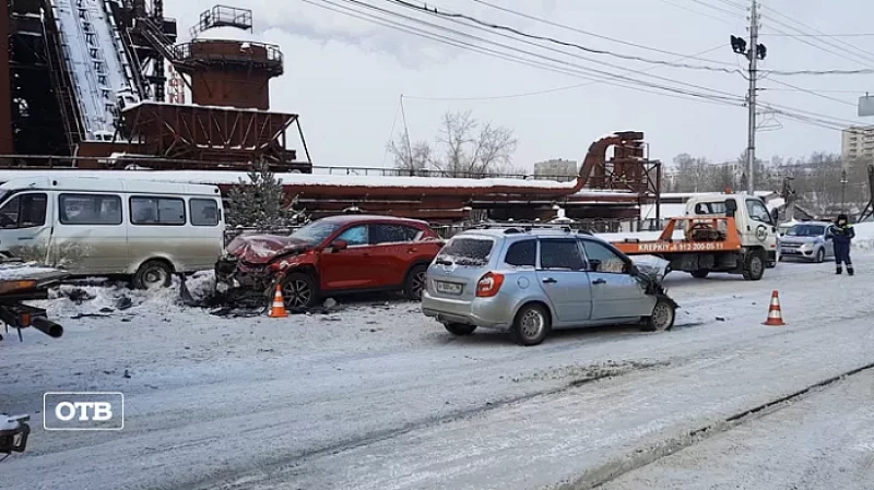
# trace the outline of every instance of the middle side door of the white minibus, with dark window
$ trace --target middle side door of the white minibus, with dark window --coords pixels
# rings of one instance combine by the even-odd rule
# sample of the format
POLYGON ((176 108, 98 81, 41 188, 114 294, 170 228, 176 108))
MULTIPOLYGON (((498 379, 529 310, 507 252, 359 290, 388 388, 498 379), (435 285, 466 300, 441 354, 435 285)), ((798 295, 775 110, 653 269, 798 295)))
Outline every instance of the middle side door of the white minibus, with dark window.
POLYGON ((61 192, 51 261, 76 274, 125 274, 127 232, 118 194, 61 192))

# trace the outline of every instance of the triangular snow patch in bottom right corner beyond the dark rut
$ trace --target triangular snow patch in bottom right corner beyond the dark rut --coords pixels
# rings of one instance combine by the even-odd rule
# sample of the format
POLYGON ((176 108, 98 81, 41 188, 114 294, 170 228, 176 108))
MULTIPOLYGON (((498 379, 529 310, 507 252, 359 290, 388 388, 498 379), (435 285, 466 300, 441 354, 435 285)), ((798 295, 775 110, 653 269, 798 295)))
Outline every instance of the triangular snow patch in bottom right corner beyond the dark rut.
POLYGON ((871 371, 693 449, 631 471, 603 490, 869 490, 874 481, 871 371))

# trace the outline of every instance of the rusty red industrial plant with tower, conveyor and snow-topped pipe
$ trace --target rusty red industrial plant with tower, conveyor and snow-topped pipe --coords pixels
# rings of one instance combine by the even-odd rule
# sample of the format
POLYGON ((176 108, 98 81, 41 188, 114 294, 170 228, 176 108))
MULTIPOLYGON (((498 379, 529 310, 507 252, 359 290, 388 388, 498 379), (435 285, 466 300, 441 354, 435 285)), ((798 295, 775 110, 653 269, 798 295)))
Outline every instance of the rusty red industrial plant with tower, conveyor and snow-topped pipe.
POLYGON ((163 170, 210 170, 198 180, 227 189, 245 176, 239 170, 267 162, 290 199, 315 216, 352 207, 432 220, 477 211, 495 219, 548 219, 560 207, 568 218, 627 219, 658 200, 660 164, 646 157, 638 132, 593 143, 577 181, 565 186, 295 177, 290 172, 314 167, 299 117, 270 110, 270 81, 284 73, 284 58, 279 46, 255 39, 250 10, 204 11, 191 38, 177 44, 164 0, 2 4, 0 39, 10 45, 0 46, 0 167, 7 169, 135 168, 155 178, 163 170), (303 155, 288 147, 292 139, 303 155), (238 172, 226 178, 228 170, 238 172))

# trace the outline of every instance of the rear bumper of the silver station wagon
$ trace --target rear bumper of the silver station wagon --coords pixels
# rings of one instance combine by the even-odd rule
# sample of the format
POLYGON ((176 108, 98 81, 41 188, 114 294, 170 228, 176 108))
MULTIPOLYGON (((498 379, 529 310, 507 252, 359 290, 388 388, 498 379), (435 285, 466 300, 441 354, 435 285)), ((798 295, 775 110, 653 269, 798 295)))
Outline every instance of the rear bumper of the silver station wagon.
POLYGON ((473 301, 436 298, 422 292, 422 313, 441 323, 460 323, 483 328, 509 330, 513 308, 500 298, 475 298, 473 301))

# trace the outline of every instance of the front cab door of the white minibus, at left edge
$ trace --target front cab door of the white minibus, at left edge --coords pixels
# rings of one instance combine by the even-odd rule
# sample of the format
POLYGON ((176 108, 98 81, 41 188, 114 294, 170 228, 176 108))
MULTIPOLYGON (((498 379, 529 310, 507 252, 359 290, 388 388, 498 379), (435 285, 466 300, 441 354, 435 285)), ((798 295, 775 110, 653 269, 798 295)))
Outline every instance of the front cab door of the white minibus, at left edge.
POLYGON ((46 192, 22 192, 0 205, 0 251, 24 260, 44 261, 51 236, 46 192))

